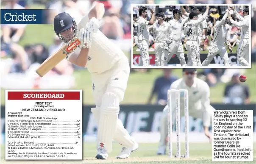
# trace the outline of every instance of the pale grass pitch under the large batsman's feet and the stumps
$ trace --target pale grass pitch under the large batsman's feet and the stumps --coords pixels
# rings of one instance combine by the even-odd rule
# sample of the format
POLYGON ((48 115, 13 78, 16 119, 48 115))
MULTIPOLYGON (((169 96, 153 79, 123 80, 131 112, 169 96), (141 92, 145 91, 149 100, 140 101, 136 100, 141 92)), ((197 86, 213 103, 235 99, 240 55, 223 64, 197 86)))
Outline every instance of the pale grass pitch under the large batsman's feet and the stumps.
MULTIPOLYGON (((1 164, 253 164, 256 161, 256 147, 254 146, 254 158, 251 162, 213 162, 211 161, 212 147, 209 143, 204 144, 189 144, 189 159, 186 158, 168 158, 165 156, 157 156, 157 144, 139 144, 138 150, 131 153, 127 159, 116 159, 116 156, 121 151, 121 145, 114 143, 114 148, 109 154, 108 160, 97 160, 96 143, 86 143, 83 146, 83 160, 82 161, 5 161, 4 145, 1 146, 1 164)), ((181 154, 184 154, 185 146, 181 144, 181 154)), ((173 153, 176 152, 176 145, 173 144, 173 153)))

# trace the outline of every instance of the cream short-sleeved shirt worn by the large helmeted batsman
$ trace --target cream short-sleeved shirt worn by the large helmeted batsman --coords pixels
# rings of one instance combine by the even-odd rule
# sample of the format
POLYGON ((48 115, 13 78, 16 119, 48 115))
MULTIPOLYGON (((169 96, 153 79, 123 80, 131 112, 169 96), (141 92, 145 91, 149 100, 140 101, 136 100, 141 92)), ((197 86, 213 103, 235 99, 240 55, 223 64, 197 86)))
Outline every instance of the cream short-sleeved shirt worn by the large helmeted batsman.
MULTIPOLYGON (((89 22, 88 15, 83 17, 81 22, 78 23, 78 29, 86 28, 87 22, 89 22)), ((66 59, 69 60, 72 54, 79 54, 80 51, 81 48, 78 47, 73 53, 70 53, 66 59)), ((125 54, 102 32, 98 31, 92 34, 92 47, 89 48, 88 61, 85 66, 90 73, 105 72, 111 69, 121 58, 126 58, 125 54)))

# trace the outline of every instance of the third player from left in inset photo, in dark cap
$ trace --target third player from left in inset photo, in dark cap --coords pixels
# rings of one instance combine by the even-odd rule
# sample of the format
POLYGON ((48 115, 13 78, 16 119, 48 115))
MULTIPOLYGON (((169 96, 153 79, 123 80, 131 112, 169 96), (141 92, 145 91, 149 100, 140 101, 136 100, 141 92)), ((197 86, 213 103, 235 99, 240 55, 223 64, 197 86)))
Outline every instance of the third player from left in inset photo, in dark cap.
POLYGON ((168 22, 171 26, 171 33, 168 39, 169 42, 169 54, 168 54, 168 61, 171 60, 174 54, 180 60, 181 66, 187 66, 184 56, 184 49, 181 42, 181 32, 186 19, 181 18, 181 11, 178 9, 173 10, 174 18, 168 22))

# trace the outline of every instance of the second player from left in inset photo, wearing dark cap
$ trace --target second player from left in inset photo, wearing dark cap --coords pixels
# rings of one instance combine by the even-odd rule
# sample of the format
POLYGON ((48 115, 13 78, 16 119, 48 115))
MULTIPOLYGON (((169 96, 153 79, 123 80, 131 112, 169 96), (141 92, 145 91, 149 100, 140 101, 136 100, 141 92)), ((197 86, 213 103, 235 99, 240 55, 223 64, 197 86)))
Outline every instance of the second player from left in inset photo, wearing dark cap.
POLYGON ((168 50, 167 39, 170 36, 170 25, 164 22, 164 14, 156 14, 157 21, 149 27, 149 31, 153 31, 153 37, 155 39, 155 63, 156 66, 167 66, 168 50))

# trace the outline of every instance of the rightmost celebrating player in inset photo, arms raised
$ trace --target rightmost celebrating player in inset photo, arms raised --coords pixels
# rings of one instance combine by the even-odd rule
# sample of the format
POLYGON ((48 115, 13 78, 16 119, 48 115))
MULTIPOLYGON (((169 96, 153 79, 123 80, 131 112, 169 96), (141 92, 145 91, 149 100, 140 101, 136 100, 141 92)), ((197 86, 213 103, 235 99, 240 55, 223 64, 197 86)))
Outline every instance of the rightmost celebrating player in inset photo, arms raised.
POLYGON ((239 19, 240 22, 234 21, 232 17, 229 17, 230 22, 233 25, 241 28, 241 41, 237 49, 237 60, 242 66, 249 66, 250 10, 249 8, 245 8, 243 10, 243 17, 239 13, 237 13, 234 6, 232 6, 232 10, 234 11, 235 16, 237 17, 237 19, 239 19))

